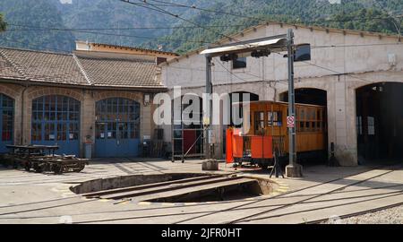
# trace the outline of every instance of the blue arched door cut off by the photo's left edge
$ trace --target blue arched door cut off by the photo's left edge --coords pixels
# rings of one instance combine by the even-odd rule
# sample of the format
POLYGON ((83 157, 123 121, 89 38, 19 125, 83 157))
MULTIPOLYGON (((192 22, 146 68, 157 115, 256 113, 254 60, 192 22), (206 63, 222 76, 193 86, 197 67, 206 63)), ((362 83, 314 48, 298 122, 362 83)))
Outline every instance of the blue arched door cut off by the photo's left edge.
POLYGON ((2 137, 0 140, 0 153, 7 152, 7 144, 13 144, 14 100, 0 94, 0 127, 2 137))

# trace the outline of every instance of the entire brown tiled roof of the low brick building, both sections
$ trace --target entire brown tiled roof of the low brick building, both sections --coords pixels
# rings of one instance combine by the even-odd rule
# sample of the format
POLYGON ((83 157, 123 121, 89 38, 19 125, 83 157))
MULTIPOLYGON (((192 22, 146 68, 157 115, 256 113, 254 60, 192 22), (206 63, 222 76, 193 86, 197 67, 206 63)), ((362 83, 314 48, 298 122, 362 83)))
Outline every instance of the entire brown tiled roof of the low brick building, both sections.
POLYGON ((58 54, 0 48, 0 79, 102 87, 160 88, 158 66, 133 55, 58 54))

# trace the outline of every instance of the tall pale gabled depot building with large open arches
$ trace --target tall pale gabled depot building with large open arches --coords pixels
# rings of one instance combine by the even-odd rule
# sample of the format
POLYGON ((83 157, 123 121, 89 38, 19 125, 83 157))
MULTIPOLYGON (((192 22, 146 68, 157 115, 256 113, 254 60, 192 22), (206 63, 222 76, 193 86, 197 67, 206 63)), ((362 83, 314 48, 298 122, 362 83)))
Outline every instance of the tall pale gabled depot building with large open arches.
MULTIPOLYGON (((211 48, 284 35, 288 29, 295 33, 295 44, 311 44, 312 60, 295 64, 296 102, 326 107, 323 128, 329 156, 334 147, 334 154, 343 166, 402 160, 403 45, 398 35, 265 22, 220 39, 211 48)), ((180 86, 182 94, 202 97, 206 90, 203 50, 161 64, 161 81, 171 96, 174 87, 180 86)), ((212 92, 249 93, 253 101, 287 101, 287 58, 283 54, 271 53, 261 58, 238 56, 230 61, 214 57, 212 92)), ((311 117, 297 114, 296 129, 313 131, 316 118, 315 114, 311 117)), ((215 125, 212 132, 210 144, 218 159, 224 158, 226 152, 227 127, 215 125)), ((174 143, 178 157, 184 153, 203 155, 203 141, 198 139, 203 130, 201 122, 192 126, 166 125, 164 129, 165 140, 174 143)))

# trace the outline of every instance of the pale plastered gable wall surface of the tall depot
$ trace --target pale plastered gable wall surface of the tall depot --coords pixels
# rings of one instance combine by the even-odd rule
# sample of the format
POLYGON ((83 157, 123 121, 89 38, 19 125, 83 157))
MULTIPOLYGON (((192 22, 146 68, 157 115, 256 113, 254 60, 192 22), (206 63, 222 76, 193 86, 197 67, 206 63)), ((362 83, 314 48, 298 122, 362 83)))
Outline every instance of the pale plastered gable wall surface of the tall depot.
MULTIPOLYGON (((260 26, 234 39, 285 34, 288 28, 294 30, 296 44, 312 46, 312 61, 309 62, 312 65, 302 62, 295 65, 296 88, 327 91, 329 144, 335 143, 336 156, 342 165, 354 166, 357 164, 356 89, 375 82, 403 82, 403 45, 393 36, 350 30, 311 30, 287 24, 260 26), (390 65, 389 55, 395 55, 396 65, 390 65)), ((214 58, 213 64, 213 91, 219 94, 249 91, 259 95, 261 100, 279 100, 279 94, 287 91, 287 58, 282 55, 248 57, 247 67, 237 70, 232 70, 231 62, 221 62, 219 58, 214 58)), ((161 80, 169 89, 181 86, 183 93, 201 95, 205 90, 205 65, 201 55, 180 57, 162 66, 161 80)), ((166 127, 165 134, 166 141, 170 141, 170 127, 166 127)), ((217 134, 216 154, 219 154, 222 153, 222 132, 217 134)))

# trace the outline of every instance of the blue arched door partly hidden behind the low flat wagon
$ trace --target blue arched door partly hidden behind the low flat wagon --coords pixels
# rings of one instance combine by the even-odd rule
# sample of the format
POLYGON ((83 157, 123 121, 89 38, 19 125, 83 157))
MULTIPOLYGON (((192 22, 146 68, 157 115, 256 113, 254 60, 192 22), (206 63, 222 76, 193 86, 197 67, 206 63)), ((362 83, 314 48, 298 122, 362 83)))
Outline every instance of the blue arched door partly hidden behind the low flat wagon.
POLYGON ((32 101, 31 142, 58 145, 57 154, 80 155, 80 101, 44 96, 32 101))

